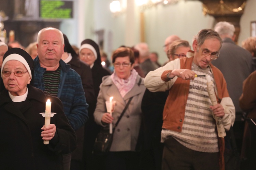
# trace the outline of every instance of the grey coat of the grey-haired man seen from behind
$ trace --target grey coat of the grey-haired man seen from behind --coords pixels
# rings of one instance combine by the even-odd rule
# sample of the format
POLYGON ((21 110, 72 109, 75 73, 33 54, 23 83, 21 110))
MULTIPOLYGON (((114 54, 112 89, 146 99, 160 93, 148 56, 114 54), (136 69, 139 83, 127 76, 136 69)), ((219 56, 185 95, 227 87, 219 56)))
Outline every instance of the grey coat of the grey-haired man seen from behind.
MULTIPOLYGON (((212 64, 223 73, 236 112, 242 111, 239 98, 242 94, 243 81, 252 73, 252 61, 252 54, 236 45, 230 38, 223 39, 219 57, 212 61, 212 64)), ((241 115, 236 114, 237 120, 241 120, 241 115)))

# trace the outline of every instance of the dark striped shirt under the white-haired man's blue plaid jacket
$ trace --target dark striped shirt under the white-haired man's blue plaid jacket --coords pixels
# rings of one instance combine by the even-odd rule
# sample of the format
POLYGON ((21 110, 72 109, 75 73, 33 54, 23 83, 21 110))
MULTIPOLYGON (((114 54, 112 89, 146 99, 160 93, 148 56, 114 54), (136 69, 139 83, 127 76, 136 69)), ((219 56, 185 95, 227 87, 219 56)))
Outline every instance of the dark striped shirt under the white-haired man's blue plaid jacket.
POLYGON ((57 96, 60 80, 60 67, 55 71, 45 71, 43 79, 45 91, 52 96, 57 96))

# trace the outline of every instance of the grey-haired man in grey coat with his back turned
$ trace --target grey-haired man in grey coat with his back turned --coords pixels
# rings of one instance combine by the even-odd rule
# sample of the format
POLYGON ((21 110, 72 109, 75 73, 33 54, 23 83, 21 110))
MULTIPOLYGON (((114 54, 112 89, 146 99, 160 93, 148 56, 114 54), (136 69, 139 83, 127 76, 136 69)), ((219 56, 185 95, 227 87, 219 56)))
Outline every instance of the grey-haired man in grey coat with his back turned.
MULTIPOLYGON (((218 22, 214 30, 222 38, 222 47, 219 50, 218 60, 213 60, 212 64, 217 67, 224 75, 227 82, 227 89, 236 108, 236 119, 233 125, 234 136, 237 148, 241 152, 244 115, 245 113, 239 106, 239 98, 242 94, 243 81, 252 73, 252 54, 239 47, 234 42, 236 38, 235 27, 225 21, 218 22)), ((228 136, 228 133, 227 133, 228 136)), ((225 139, 227 139, 226 137, 225 139)), ((225 141, 228 147, 228 141, 225 141)))

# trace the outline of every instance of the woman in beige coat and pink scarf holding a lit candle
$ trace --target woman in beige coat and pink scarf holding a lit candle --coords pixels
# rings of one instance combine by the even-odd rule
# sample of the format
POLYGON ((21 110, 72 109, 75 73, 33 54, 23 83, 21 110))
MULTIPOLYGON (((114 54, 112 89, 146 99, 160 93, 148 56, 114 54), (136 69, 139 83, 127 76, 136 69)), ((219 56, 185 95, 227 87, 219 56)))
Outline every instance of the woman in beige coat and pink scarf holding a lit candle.
POLYGON ((125 114, 114 131, 114 138, 105 160, 106 169, 138 169, 139 153, 136 144, 141 125, 141 100, 145 92, 143 78, 133 69, 134 54, 130 48, 118 48, 112 56, 115 71, 103 77, 97 106, 94 112, 95 121, 106 129, 112 123, 115 127, 126 103, 132 98, 125 114), (140 79, 142 80, 139 84, 140 79), (106 113, 105 101, 116 101, 112 116, 106 113))

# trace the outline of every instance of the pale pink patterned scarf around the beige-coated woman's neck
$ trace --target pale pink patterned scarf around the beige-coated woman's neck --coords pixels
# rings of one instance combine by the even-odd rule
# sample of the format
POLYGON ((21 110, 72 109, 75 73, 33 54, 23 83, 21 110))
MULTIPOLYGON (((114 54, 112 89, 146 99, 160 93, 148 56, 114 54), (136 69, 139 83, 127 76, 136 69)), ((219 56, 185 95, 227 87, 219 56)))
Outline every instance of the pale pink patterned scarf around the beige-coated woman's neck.
POLYGON ((132 87, 136 83, 137 75, 138 75, 138 73, 134 69, 131 70, 131 75, 127 80, 120 79, 119 77, 117 77, 115 72, 113 74, 111 74, 111 79, 112 79, 113 83, 116 85, 117 89, 119 90, 120 95, 123 98, 132 89, 132 87))

